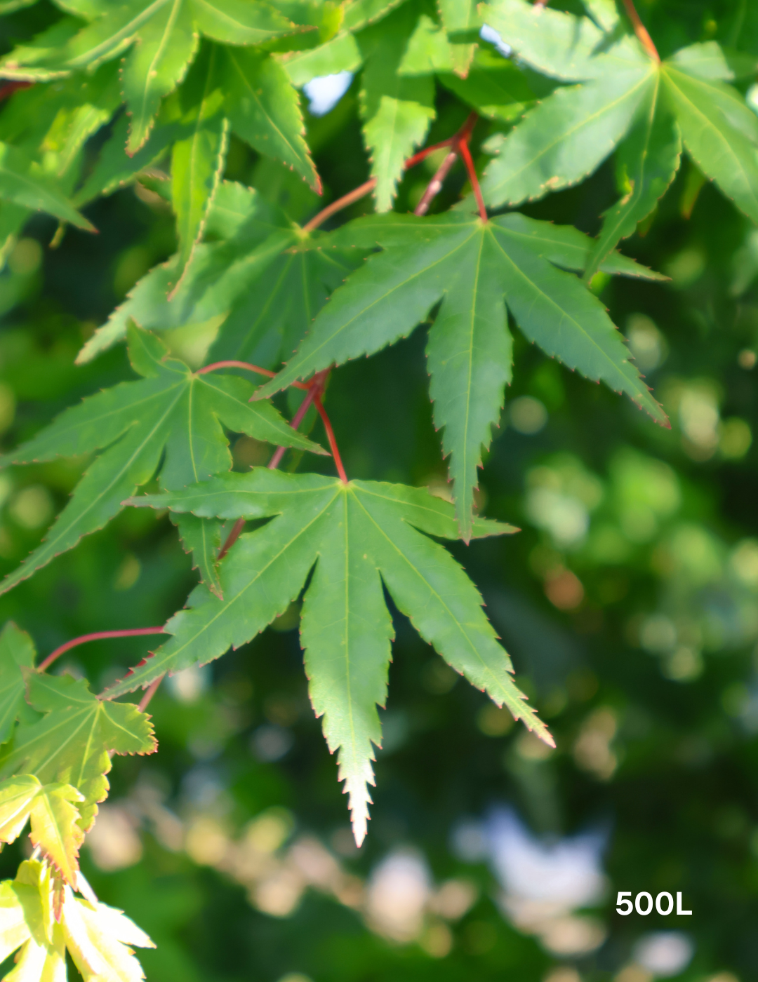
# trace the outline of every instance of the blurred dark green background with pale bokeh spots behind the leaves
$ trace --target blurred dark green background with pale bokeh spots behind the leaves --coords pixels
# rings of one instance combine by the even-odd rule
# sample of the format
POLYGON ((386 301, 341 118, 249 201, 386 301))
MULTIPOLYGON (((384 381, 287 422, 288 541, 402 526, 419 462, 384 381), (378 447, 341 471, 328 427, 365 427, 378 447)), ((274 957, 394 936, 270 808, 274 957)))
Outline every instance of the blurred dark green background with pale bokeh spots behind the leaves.
MULTIPOLYGON (((4 19, 4 49, 32 32, 40 9, 4 19)), ((758 53, 747 0, 641 10, 663 54, 711 37, 758 53)), ((749 80, 743 90, 758 104, 749 80)), ((450 92, 438 98, 430 142, 466 113, 450 92)), ((356 86, 312 85, 309 105, 328 200, 367 176, 356 86)), ((493 128, 480 130, 481 167, 493 128)), ((399 211, 438 162, 406 176, 399 211)), ((322 203, 242 143, 226 176, 297 221, 322 203)), ((458 166, 435 209, 465 190, 458 166)), ((614 196, 609 163, 524 210, 594 234, 614 196)), ((69 229, 51 247, 54 223, 40 217, 6 257, 4 448, 131 377, 121 349, 84 367, 74 357, 173 251, 172 216, 149 182, 87 214, 96 237, 69 229)), ((453 547, 556 749, 447 669, 395 611, 378 788, 358 851, 308 701, 293 605, 254 643, 164 684, 150 705, 159 753, 116 761, 84 869, 98 896, 157 942, 141 954, 149 980, 758 977, 758 232, 687 163, 641 233, 625 251, 671 280, 599 277, 593 289, 671 430, 516 331, 515 382, 479 507, 522 531, 453 547), (692 914, 619 916, 621 890, 681 892, 692 914)), ((180 329, 169 341, 192 363, 207 332, 180 329)), ((445 495, 424 343, 422 326, 335 371, 327 405, 350 475, 445 495)), ((266 455, 247 438, 234 447, 240 469, 266 455)), ((86 465, 0 472, 0 572, 38 542, 86 465)), ((162 624, 195 581, 190 567, 167 518, 127 510, 0 598, 0 621, 29 630, 42 654, 88 631, 162 624)), ((145 652, 140 639, 92 643, 61 670, 99 690, 145 652)), ((2 875, 18 858, 16 846, 4 851, 2 875)))

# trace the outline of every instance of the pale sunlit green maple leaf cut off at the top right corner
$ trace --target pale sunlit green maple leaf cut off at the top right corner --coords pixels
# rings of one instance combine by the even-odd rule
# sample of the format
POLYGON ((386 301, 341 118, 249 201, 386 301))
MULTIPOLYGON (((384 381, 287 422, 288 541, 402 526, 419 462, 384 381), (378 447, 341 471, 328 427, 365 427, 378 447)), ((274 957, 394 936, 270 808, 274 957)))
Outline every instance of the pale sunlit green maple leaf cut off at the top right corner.
POLYGON ((557 87, 503 140, 482 182, 487 202, 519 204, 576 184, 620 143, 622 197, 606 215, 592 275, 670 187, 683 143, 700 170, 758 222, 758 119, 727 84, 738 72, 749 74, 753 60, 729 58, 710 41, 658 63, 635 38, 616 39, 611 11, 590 9, 598 24, 523 0, 482 7, 523 62, 575 83, 557 87))

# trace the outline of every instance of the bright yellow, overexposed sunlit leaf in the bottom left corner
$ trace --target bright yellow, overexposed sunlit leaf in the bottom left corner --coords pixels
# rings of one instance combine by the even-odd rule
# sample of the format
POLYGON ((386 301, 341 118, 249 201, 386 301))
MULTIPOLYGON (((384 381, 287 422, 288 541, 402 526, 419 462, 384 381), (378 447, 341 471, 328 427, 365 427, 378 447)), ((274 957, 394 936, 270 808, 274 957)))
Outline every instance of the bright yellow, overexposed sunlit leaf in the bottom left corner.
POLYGON ((18 948, 11 982, 65 982, 66 950, 86 982, 140 982, 145 974, 130 947, 155 946, 121 910, 63 892, 60 921, 52 916, 49 869, 37 860, 0 884, 0 956, 18 948), (23 946, 23 947, 22 947, 23 946))

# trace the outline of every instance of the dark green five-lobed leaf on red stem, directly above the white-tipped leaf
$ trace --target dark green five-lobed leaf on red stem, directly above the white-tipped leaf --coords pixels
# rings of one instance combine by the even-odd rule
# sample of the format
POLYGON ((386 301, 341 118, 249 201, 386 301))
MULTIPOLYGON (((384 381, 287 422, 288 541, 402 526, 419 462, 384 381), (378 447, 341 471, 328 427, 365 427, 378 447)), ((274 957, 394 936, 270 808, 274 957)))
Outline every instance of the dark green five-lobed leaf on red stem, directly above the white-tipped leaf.
MULTIPOLYGON (((510 381, 511 339, 505 304, 526 337, 546 354, 625 392, 658 422, 663 409, 629 361, 605 307, 564 269, 582 270, 592 240, 519 214, 483 223, 448 212, 434 218, 358 219, 333 241, 377 243, 384 251, 335 291, 313 329, 266 395, 329 364, 369 355, 407 335, 443 300, 427 354, 437 428, 450 455, 456 515, 471 534, 482 447, 510 381), (563 269, 556 268, 557 266, 563 269)), ((622 256, 602 267, 631 276, 655 274, 622 256)))

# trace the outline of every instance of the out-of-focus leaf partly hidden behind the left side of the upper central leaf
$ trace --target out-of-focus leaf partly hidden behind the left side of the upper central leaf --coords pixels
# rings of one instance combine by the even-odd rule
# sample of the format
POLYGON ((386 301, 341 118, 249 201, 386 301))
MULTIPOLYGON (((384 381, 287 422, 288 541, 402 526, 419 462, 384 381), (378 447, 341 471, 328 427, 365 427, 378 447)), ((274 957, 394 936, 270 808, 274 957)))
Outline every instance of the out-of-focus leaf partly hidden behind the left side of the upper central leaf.
POLYGON ((327 247, 306 234, 262 195, 225 181, 213 198, 192 266, 171 300, 181 257, 157 266, 134 287, 77 360, 88 361, 126 335, 130 320, 157 331, 221 323, 211 360, 238 358, 275 367, 290 357, 331 291, 366 251, 327 247))

